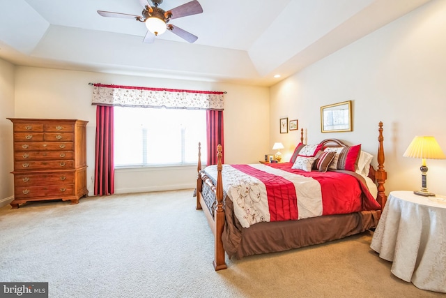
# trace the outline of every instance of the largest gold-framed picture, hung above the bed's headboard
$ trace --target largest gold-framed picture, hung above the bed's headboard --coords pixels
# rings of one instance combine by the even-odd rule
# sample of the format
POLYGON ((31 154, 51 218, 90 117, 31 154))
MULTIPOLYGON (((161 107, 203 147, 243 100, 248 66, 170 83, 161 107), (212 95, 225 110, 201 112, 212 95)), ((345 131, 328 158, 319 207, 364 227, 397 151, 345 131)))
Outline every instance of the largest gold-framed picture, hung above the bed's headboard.
POLYGON ((353 131, 351 100, 321 107, 321 132, 353 131))

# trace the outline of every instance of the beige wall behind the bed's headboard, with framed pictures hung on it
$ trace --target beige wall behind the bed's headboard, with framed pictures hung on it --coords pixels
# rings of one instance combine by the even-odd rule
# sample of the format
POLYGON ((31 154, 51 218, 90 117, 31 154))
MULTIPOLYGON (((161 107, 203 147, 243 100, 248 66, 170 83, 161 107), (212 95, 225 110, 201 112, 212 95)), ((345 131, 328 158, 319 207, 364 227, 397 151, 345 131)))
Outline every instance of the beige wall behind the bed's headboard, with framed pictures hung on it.
MULTIPOLYGON (((421 186, 421 161, 403 157, 415 135, 433 135, 446 153, 446 1, 432 1, 271 88, 270 136, 291 154, 299 119, 307 142, 336 137, 376 154, 384 124, 386 192, 421 186), (353 100, 353 132, 321 133, 320 107, 353 100)), ((428 187, 446 195, 446 160, 428 160, 428 187)))

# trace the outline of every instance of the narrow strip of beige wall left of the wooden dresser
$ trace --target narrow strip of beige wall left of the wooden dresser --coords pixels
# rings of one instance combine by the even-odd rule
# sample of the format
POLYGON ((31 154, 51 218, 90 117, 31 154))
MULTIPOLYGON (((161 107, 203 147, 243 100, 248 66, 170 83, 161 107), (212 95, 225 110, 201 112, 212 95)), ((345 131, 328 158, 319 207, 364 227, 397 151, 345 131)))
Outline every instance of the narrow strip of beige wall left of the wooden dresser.
POLYGON ((8 204, 13 189, 14 66, 0 59, 0 206, 8 204))

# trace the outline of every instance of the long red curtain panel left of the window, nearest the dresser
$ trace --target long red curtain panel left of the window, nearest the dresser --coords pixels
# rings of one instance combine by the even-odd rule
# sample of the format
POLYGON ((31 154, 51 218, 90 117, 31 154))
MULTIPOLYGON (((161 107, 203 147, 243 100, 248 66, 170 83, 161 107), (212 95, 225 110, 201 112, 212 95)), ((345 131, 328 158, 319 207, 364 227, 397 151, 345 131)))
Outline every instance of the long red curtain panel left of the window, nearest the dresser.
POLYGON ((96 107, 95 195, 114 193, 113 107, 96 107))

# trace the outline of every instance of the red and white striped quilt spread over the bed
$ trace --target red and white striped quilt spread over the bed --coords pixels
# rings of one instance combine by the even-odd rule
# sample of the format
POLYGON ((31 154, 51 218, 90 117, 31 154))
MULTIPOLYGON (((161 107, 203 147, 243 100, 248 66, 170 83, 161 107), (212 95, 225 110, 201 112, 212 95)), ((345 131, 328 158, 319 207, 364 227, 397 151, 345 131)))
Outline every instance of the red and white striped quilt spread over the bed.
MULTIPOLYGON (((380 209, 367 184, 354 172, 305 172, 291 165, 223 165, 223 188, 243 228, 262 221, 380 209)), ((215 165, 204 171, 217 179, 215 165)))

